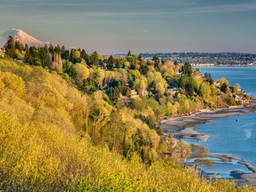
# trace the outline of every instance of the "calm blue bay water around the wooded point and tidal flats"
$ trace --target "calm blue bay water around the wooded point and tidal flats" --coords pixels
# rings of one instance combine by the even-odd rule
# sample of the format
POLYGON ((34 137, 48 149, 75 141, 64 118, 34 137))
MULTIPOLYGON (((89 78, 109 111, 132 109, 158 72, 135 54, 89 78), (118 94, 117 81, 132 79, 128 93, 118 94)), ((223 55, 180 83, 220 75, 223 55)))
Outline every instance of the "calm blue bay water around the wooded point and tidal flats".
MULTIPOLYGON (((232 85, 239 83, 246 93, 256 97, 256 67, 202 67, 201 71, 203 74, 211 73, 214 80, 227 77, 232 85)), ((195 130, 212 136, 209 141, 200 142, 210 149, 211 154, 233 154, 256 165, 256 113, 216 119, 212 123, 198 125, 195 130)), ((195 140, 186 141, 197 143, 195 140)), ((230 177, 232 170, 250 173, 246 166, 236 161, 233 164, 216 163, 211 172, 230 177)))

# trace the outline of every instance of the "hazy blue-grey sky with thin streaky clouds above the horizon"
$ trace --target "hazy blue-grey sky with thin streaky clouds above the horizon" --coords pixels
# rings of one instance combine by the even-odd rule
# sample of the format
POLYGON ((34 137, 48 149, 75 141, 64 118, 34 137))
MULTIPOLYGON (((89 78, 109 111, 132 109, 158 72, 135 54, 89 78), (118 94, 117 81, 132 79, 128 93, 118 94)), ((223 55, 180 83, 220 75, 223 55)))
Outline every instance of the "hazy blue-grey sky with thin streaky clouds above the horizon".
POLYGON ((256 52, 256 0, 0 0, 0 34, 104 53, 256 52))

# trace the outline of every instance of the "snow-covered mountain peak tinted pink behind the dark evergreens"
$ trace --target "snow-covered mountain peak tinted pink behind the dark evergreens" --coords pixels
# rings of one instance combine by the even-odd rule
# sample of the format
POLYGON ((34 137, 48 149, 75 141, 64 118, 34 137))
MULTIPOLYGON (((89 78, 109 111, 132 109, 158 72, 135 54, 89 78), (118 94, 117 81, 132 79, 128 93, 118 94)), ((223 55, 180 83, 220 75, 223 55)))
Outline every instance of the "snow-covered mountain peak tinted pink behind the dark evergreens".
POLYGON ((17 40, 19 40, 19 42, 21 42, 22 44, 28 44, 29 46, 44 46, 45 44, 49 46, 51 44, 51 42, 42 42, 20 29, 10 29, 9 31, 6 31, 2 35, 0 35, 0 47, 3 47, 4 44, 7 42, 8 36, 13 36, 17 38, 17 40))

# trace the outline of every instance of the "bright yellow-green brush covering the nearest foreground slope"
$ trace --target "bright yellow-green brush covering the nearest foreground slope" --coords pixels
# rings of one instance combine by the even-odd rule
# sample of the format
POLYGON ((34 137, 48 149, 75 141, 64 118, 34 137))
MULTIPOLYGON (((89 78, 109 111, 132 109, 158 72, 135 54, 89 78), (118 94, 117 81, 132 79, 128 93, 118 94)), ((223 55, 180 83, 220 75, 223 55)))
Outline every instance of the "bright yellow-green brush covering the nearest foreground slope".
POLYGON ((148 167, 138 156, 128 162, 93 146, 87 136, 20 122, 3 111, 0 128, 4 191, 241 191, 225 180, 207 184, 177 164, 155 161, 148 167))

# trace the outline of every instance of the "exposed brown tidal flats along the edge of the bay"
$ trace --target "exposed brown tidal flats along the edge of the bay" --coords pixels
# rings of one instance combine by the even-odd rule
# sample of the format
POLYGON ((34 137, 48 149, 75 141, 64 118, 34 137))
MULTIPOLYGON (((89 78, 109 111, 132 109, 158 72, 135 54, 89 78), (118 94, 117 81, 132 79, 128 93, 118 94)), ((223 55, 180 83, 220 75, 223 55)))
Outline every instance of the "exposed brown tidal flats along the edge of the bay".
MULTIPOLYGON (((182 138, 193 139, 197 141, 207 141, 211 138, 210 135, 202 134, 195 131, 198 124, 209 124, 212 120, 217 118, 226 118, 234 115, 246 115, 254 113, 256 110, 256 99, 253 98, 251 102, 245 106, 231 106, 230 108, 219 108, 214 111, 193 113, 189 116, 179 116, 175 118, 168 118, 162 121, 164 134, 171 135, 175 140, 182 138)), ((232 154, 210 154, 210 157, 220 159, 223 163, 230 163, 232 160, 237 160, 239 164, 244 164, 252 173, 244 173, 237 170, 230 172, 231 176, 237 182, 237 185, 252 184, 256 186, 256 166, 248 161, 244 161, 242 157, 234 156, 232 154)), ((211 176, 211 175, 210 175, 211 176)))

